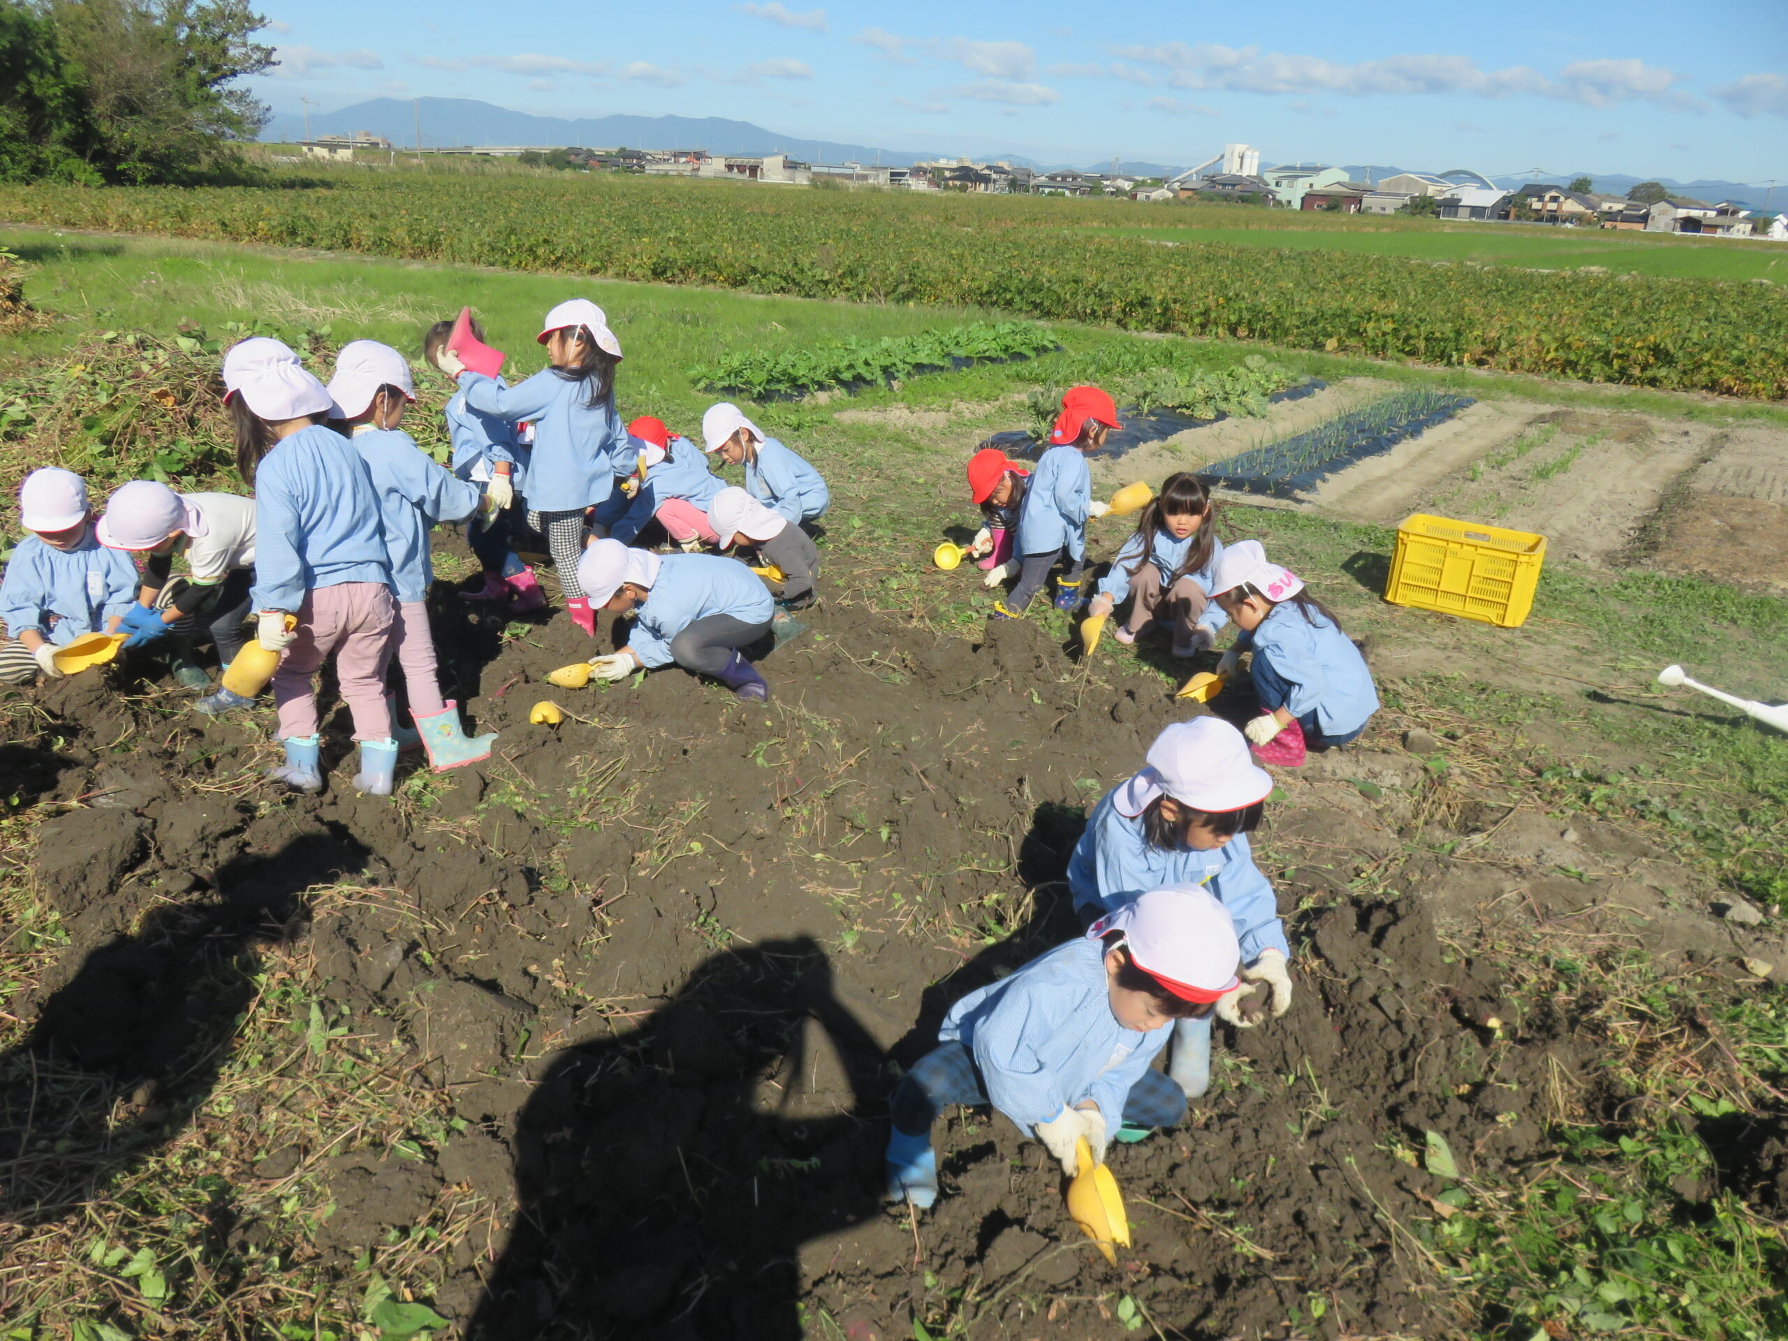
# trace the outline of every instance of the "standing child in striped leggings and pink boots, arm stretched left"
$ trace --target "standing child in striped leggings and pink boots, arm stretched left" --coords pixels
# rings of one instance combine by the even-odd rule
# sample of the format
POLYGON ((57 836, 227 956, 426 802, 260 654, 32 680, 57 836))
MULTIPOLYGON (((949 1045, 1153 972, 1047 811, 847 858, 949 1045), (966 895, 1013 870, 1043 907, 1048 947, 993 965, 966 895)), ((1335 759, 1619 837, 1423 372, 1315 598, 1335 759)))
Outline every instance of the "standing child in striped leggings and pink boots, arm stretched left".
POLYGON ((585 511, 615 492, 615 476, 633 470, 628 431, 615 411, 615 370, 620 342, 603 309, 570 299, 547 313, 538 336, 551 365, 520 386, 470 372, 443 349, 440 368, 460 383, 465 404, 510 424, 527 422, 535 440, 527 458, 527 524, 547 538, 565 610, 595 637, 595 610, 578 586, 585 511))

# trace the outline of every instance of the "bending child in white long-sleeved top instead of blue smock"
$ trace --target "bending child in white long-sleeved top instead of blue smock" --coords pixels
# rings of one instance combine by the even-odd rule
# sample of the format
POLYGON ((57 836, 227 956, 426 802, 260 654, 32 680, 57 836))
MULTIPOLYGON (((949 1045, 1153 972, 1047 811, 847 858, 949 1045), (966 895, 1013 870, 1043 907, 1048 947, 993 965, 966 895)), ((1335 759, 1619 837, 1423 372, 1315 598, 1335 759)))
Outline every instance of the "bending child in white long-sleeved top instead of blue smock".
POLYGON ((97 535, 107 549, 145 556, 143 590, 123 617, 125 647, 173 637, 173 678, 186 688, 209 688, 211 678, 193 662, 195 624, 204 617, 222 665, 236 660, 252 608, 254 499, 175 493, 154 479, 132 479, 107 501, 97 535), (175 581, 177 552, 186 554, 190 574, 175 581), (175 588, 163 599, 170 583, 175 588))

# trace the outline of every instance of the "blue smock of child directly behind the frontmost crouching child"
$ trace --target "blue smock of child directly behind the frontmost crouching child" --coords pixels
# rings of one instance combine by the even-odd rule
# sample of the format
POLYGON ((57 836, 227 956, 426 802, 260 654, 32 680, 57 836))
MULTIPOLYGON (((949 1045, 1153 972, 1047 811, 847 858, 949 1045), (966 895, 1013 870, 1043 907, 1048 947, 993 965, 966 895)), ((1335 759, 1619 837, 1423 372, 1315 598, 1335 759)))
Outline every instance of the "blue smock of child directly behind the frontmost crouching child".
POLYGON ((1228 910, 1243 964, 1253 964, 1262 949, 1277 949, 1289 960, 1278 898, 1253 864, 1248 835, 1237 833, 1221 848, 1202 853, 1151 848, 1143 833, 1143 817, 1126 815, 1118 806, 1125 787, 1128 783, 1114 787, 1092 808, 1092 819, 1067 858, 1067 889, 1075 907, 1092 903, 1110 912, 1151 889, 1203 885, 1228 910))

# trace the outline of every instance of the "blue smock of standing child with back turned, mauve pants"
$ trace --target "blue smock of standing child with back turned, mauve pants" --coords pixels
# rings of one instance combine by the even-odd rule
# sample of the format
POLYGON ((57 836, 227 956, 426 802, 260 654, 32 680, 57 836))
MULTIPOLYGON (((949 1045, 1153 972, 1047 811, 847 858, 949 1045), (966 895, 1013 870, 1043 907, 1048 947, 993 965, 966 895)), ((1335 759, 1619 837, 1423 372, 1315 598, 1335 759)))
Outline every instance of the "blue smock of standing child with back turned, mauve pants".
POLYGON ((379 492, 354 445, 311 424, 274 445, 254 472, 256 610, 295 613, 304 594, 343 583, 392 585, 379 492))

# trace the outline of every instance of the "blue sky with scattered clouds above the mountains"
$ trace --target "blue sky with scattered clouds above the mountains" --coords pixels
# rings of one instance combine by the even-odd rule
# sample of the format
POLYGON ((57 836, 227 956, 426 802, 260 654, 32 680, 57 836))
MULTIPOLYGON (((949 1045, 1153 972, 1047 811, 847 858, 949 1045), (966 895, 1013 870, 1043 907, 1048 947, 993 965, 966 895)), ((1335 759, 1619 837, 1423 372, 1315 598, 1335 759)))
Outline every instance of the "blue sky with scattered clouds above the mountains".
POLYGON ((1076 163, 1244 141, 1264 163, 1788 179, 1784 0, 259 9, 275 111, 434 95, 1076 163))

